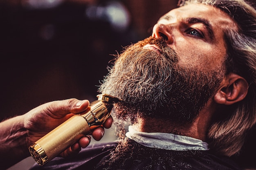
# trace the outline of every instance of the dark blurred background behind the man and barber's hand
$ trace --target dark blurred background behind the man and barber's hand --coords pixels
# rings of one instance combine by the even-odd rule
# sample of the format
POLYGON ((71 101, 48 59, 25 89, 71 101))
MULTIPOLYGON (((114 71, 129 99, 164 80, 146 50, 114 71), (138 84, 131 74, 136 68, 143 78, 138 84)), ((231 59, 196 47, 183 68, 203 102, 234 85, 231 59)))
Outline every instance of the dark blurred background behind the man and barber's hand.
MULTIPOLYGON (((177 2, 0 0, 0 121, 53 100, 97 99, 113 55, 150 36, 177 2)), ((254 138, 239 157, 246 165, 254 138)))

